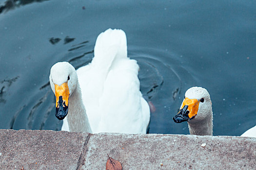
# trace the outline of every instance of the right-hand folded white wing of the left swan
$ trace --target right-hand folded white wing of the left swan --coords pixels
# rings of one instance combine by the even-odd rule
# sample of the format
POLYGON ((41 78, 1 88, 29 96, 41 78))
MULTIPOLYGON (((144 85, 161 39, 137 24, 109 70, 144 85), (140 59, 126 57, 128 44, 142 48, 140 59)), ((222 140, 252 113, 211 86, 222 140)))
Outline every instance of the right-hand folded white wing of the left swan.
POLYGON ((148 103, 139 91, 136 60, 120 60, 112 66, 99 99, 103 113, 98 132, 145 134, 149 123, 148 103))

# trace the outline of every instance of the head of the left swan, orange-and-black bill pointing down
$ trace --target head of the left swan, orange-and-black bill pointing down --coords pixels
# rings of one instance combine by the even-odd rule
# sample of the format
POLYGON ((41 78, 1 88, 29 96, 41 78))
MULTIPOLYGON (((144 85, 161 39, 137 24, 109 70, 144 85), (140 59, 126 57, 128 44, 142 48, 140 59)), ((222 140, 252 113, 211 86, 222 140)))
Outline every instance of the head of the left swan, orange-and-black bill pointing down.
POLYGON ((62 120, 68 114, 68 99, 77 87, 76 69, 68 62, 53 65, 49 76, 51 88, 56 96, 55 116, 62 120))

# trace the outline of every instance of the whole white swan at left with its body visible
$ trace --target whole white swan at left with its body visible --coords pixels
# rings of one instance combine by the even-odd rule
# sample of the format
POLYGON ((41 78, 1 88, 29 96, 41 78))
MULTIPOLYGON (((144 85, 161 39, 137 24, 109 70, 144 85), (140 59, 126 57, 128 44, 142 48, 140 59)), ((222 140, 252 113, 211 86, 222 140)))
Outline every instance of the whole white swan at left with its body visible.
POLYGON ((94 54, 77 71, 67 62, 51 68, 56 117, 67 116, 61 130, 145 134, 150 110, 139 91, 137 61, 127 57, 125 33, 99 34, 94 54))

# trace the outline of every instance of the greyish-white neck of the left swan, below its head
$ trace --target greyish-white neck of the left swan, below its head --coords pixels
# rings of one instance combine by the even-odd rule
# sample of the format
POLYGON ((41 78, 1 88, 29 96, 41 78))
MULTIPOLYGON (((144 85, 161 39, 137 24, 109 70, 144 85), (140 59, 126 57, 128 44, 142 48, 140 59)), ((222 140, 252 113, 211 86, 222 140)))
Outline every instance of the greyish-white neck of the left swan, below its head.
POLYGON ((70 132, 92 133, 91 125, 84 104, 79 83, 74 92, 69 97, 67 121, 70 132))

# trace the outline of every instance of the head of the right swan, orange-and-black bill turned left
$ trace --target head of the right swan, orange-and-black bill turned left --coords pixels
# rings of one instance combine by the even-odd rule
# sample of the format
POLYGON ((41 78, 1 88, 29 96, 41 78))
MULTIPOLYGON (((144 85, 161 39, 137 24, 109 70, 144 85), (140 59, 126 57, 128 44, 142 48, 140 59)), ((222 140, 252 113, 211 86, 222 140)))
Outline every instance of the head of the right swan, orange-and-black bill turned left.
POLYGON ((186 91, 180 111, 173 120, 176 123, 197 122, 212 118, 212 114, 212 102, 208 91, 202 87, 191 87, 186 91))

